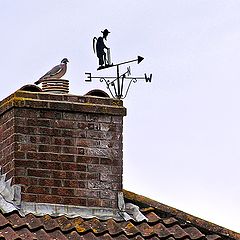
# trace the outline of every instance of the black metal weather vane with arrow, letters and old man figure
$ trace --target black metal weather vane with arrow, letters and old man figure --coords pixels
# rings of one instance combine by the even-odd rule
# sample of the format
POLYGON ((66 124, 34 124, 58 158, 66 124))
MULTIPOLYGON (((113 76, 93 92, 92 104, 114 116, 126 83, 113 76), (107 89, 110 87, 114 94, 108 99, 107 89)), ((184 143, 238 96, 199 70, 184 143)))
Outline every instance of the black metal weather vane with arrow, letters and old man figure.
POLYGON ((107 36, 109 33, 110 32, 107 29, 105 29, 104 31, 102 31, 103 36, 100 36, 99 38, 96 38, 96 37, 93 38, 93 50, 94 50, 94 53, 97 54, 97 57, 99 60, 99 67, 97 70, 116 67, 117 76, 116 77, 112 77, 112 76, 93 77, 91 73, 85 73, 87 75, 87 79, 85 81, 91 82, 92 79, 99 79, 100 82, 106 83, 107 89, 109 90, 113 98, 124 99, 127 96, 129 88, 132 83, 136 83, 137 80, 140 80, 140 79, 145 79, 146 82, 151 82, 152 74, 150 74, 149 77, 147 76, 146 73, 144 74, 143 77, 132 77, 130 67, 127 67, 127 70, 124 73, 120 74, 120 71, 119 71, 120 65, 132 63, 132 62, 137 62, 139 64, 140 62, 142 62, 144 58, 141 56, 138 56, 134 60, 113 64, 111 62, 110 48, 108 48, 104 43, 104 40, 107 40, 107 36), (105 49, 107 53, 105 52, 105 49))

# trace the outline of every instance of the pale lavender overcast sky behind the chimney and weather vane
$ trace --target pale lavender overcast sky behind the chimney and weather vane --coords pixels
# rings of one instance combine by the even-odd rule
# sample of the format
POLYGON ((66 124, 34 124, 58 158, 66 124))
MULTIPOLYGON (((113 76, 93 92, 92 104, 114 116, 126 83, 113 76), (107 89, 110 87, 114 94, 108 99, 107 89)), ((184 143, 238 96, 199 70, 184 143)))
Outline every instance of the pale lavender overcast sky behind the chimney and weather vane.
MULTIPOLYGON (((0 0, 0 99, 69 59, 70 93, 101 88, 93 37, 138 81, 124 100, 124 188, 240 232, 239 0, 0 0)), ((122 66, 120 71, 126 71, 122 66)))

